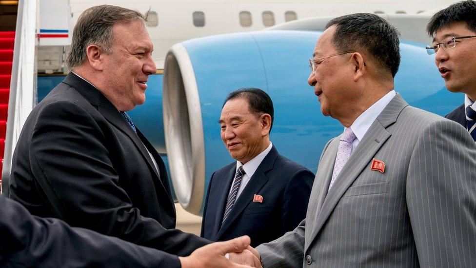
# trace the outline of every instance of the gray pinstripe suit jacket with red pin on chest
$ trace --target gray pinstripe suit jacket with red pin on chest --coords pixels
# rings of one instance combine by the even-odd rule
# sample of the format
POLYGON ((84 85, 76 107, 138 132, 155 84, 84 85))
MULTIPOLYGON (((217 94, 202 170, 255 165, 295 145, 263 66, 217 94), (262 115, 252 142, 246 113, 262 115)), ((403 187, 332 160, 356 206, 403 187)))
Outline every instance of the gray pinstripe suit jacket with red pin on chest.
POLYGON ((397 94, 327 193, 338 144, 322 152, 306 219, 257 247, 265 268, 476 267, 476 145, 460 124, 397 94))

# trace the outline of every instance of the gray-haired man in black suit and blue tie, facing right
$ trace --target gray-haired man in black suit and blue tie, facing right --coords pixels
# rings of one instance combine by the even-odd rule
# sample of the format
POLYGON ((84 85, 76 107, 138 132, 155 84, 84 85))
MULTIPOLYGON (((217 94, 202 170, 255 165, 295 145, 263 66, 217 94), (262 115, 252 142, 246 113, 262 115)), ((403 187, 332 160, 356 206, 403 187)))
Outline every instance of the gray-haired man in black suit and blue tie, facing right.
POLYGON ((9 196, 34 215, 187 256, 210 242, 175 229, 164 163, 124 112, 145 101, 157 71, 145 20, 110 5, 81 14, 71 73, 21 131, 9 196))

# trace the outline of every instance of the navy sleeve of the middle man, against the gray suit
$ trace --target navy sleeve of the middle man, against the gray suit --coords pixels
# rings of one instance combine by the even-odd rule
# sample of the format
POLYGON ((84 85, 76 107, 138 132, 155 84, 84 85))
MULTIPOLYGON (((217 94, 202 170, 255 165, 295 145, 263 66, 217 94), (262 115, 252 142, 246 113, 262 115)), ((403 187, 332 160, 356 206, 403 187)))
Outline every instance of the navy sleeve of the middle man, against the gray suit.
POLYGON ((308 169, 299 169, 288 182, 283 196, 283 233, 292 231, 306 218, 309 196, 315 175, 308 169))

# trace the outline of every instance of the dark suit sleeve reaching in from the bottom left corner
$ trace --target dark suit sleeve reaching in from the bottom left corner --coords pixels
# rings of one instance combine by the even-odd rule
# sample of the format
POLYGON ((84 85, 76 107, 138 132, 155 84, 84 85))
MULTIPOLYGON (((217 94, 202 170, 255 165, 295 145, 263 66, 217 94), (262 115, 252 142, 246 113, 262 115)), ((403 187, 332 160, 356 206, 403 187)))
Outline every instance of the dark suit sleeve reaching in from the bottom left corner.
POLYGON ((1 195, 0 207, 0 267, 180 267, 177 256, 32 216, 1 195))

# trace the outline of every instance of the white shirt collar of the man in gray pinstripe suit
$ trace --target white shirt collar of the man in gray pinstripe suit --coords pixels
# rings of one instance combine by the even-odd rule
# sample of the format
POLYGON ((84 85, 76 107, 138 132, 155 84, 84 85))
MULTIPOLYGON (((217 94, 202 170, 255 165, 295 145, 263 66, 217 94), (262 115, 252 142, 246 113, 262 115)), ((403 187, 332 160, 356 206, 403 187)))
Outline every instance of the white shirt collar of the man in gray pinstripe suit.
MULTIPOLYGON (((356 121, 350 126, 358 141, 361 141, 364 137, 367 130, 369 130, 370 126, 374 121, 377 119, 378 115, 385 109, 385 107, 392 101, 392 99, 397 95, 395 90, 392 90, 385 94, 380 100, 376 103, 372 104, 367 110, 365 110, 362 114, 360 114, 356 121)), ((344 128, 345 129, 345 128, 344 128)))

